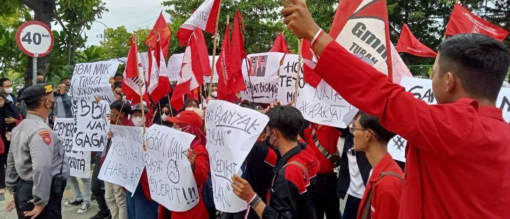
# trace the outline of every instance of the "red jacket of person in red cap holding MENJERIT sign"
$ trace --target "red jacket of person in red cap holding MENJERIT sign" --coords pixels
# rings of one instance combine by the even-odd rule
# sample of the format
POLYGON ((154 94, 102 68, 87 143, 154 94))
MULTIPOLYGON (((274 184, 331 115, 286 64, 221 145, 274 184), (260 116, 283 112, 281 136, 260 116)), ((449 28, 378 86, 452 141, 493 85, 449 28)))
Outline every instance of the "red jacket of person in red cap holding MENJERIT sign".
MULTIPOLYGON (((207 219, 209 218, 209 214, 207 212, 206 205, 203 203, 202 197, 202 189, 203 184, 206 183, 207 178, 209 177, 209 154, 207 153, 206 147, 203 145, 198 145, 193 148, 193 151, 196 153, 195 159, 195 171, 193 172, 193 176, 195 177, 196 185, 198 187, 198 204, 195 207, 183 211, 177 212, 172 211, 172 219, 207 219)), ((167 209, 160 205, 158 209, 158 219, 166 219, 168 218, 167 209)))

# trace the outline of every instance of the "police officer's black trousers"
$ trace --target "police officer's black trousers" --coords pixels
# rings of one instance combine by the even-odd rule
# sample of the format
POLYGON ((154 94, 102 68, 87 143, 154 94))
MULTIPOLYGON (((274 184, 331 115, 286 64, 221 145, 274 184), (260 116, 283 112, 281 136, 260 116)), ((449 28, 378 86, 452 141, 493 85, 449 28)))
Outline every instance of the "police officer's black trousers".
MULTIPOLYGON (((32 181, 24 181, 16 185, 16 191, 14 193, 14 203, 16 204, 16 212, 18 214, 19 219, 25 219, 30 217, 25 217, 23 212, 31 211, 34 209, 34 203, 30 200, 34 199, 32 196, 32 188, 34 187, 34 182, 32 181)), ((65 187, 65 185, 64 185, 65 187)), ((62 195, 63 193, 57 194, 52 190, 49 193, 49 201, 41 214, 37 217, 38 219, 61 219, 62 218, 62 195)))

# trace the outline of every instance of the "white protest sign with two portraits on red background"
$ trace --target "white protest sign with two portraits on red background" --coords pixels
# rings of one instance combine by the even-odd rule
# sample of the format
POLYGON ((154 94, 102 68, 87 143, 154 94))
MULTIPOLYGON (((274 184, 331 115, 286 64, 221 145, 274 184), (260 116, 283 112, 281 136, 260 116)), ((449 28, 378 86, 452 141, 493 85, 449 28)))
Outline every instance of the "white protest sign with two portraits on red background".
POLYGON ((272 103, 278 99, 278 75, 284 53, 265 52, 249 54, 243 61, 242 71, 245 91, 241 97, 259 103, 272 103), (248 63, 246 64, 246 61, 248 63))

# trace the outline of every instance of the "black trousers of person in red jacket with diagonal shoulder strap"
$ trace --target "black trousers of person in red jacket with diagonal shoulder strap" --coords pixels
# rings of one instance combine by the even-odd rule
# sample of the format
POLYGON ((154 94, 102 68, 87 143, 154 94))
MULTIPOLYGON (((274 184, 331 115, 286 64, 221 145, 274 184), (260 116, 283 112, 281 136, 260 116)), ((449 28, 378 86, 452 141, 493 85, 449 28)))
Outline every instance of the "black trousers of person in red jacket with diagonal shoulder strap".
POLYGON ((317 174, 314 187, 314 206, 317 218, 340 219, 340 199, 337 197, 337 175, 317 174))

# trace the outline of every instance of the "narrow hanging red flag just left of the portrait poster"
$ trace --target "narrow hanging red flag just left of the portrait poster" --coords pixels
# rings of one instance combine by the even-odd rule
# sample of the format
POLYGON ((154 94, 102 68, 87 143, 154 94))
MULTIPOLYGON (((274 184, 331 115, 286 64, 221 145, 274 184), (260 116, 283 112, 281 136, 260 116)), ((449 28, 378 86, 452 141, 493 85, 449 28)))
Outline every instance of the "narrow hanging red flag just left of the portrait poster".
POLYGON ((243 16, 239 10, 236 11, 234 17, 234 26, 232 30, 232 45, 231 45, 231 66, 233 70, 232 83, 228 86, 228 90, 237 93, 246 90, 244 86, 242 62, 246 58, 246 51, 244 50, 244 21, 243 16), (241 29, 242 28, 242 29, 241 29))

